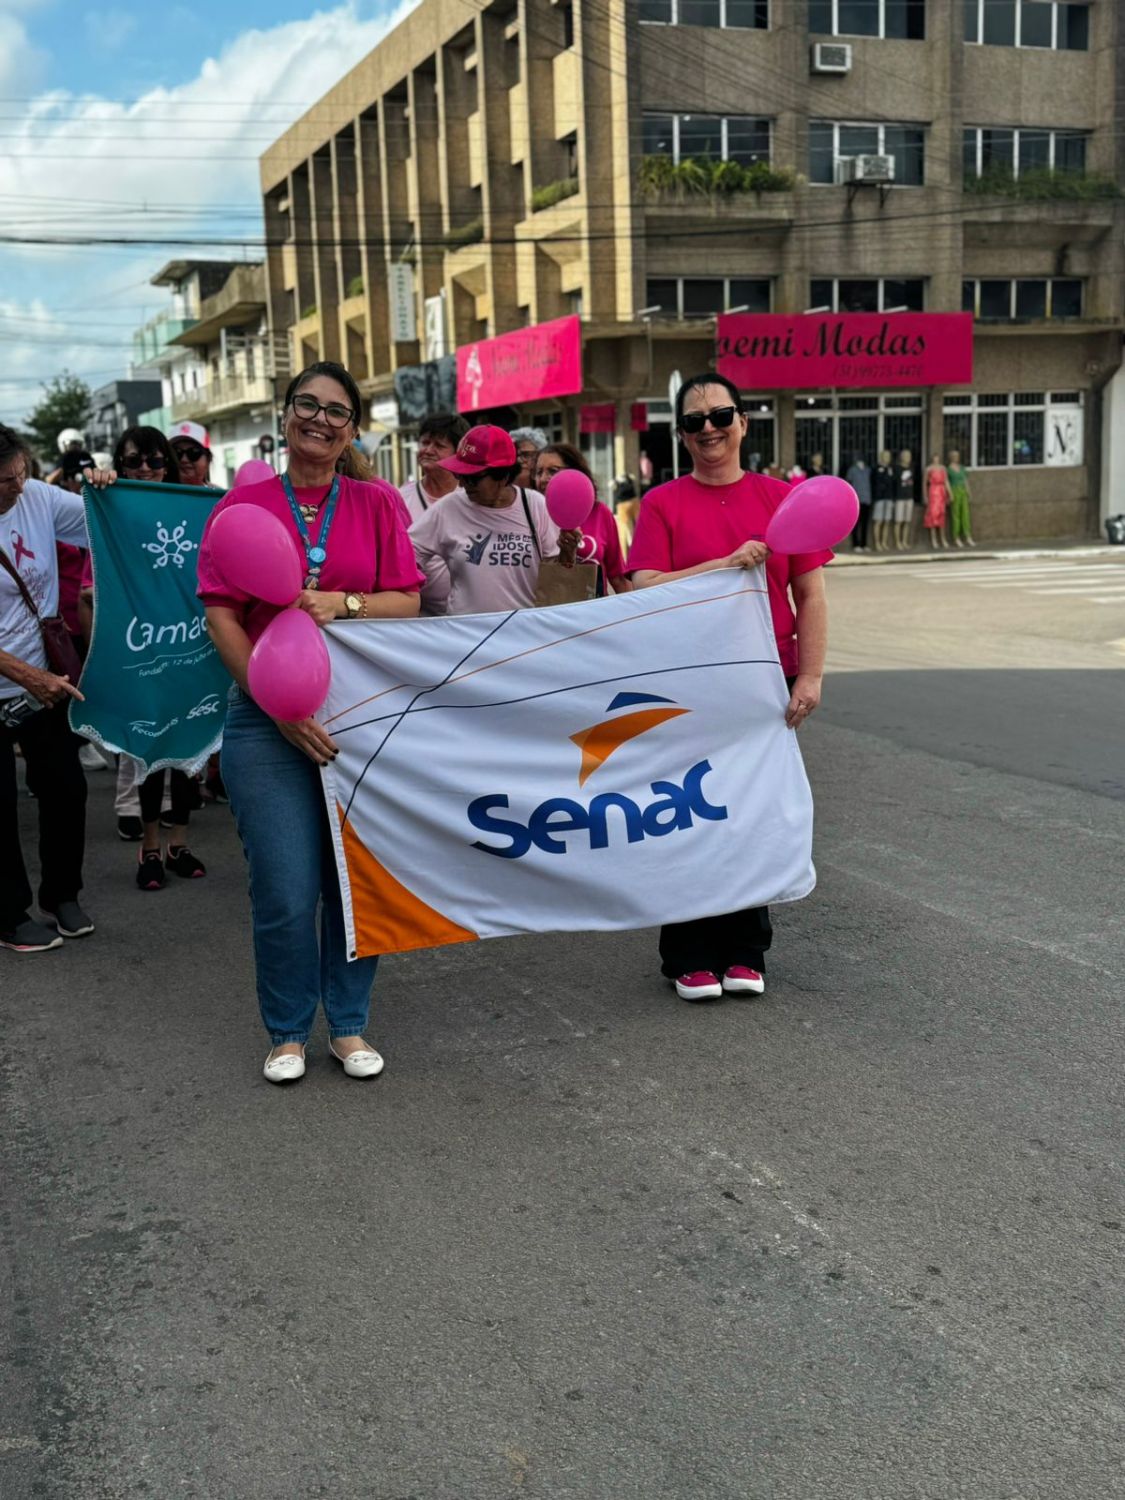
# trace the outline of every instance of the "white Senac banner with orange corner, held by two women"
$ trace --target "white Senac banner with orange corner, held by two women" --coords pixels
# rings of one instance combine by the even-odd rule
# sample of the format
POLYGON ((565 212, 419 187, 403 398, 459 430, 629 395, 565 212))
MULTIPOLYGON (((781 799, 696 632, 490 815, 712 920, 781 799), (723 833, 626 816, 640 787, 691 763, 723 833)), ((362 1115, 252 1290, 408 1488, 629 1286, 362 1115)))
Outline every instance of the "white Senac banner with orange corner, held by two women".
POLYGON ((812 891, 813 802, 760 568, 326 636, 351 957, 812 891))

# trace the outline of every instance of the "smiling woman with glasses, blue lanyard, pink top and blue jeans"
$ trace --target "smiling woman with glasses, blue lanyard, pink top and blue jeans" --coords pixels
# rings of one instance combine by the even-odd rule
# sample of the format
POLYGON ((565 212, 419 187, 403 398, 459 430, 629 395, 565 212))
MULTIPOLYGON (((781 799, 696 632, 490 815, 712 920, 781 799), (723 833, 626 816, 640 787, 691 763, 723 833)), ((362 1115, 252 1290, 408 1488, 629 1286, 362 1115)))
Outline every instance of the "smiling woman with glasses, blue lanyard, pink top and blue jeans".
POLYGON ((272 1050, 264 1074, 304 1072, 304 1044, 322 1004, 328 1048, 354 1078, 382 1071, 364 1040, 376 958, 348 963, 332 830, 320 766, 336 746, 315 718, 282 723, 254 702, 246 668, 254 642, 279 612, 231 588, 214 567, 210 526, 228 506, 261 506, 285 522, 308 573, 297 603, 327 626, 346 618, 410 618, 422 574, 398 490, 354 478, 351 447, 363 404, 344 366, 321 362, 285 393, 288 472, 232 489, 200 546, 200 597, 236 687, 222 744, 222 778, 250 867, 258 1004, 272 1050), (345 470, 345 472, 339 472, 345 470), (348 472, 351 471, 351 472, 348 472), (320 908, 320 934, 318 934, 320 908))

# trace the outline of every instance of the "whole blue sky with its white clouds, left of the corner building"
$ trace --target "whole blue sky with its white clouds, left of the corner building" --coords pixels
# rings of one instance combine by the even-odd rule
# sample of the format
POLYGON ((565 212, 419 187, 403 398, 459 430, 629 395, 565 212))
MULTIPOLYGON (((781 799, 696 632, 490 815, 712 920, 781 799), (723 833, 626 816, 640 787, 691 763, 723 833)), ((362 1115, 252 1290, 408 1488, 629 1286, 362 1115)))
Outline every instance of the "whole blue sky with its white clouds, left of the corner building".
POLYGON ((124 375, 184 254, 34 242, 260 236, 258 156, 411 4, 0 0, 0 422, 57 370, 124 375))

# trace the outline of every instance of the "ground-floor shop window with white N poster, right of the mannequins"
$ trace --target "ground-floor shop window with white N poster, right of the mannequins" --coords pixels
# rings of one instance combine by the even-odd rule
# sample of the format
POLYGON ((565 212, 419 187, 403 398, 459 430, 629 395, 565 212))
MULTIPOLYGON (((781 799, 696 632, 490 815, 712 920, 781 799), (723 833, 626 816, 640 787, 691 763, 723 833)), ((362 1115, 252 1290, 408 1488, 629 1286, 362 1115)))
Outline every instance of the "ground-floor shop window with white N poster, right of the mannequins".
POLYGON ((945 447, 970 468, 1068 468, 1083 462, 1082 393, 945 398, 945 447))

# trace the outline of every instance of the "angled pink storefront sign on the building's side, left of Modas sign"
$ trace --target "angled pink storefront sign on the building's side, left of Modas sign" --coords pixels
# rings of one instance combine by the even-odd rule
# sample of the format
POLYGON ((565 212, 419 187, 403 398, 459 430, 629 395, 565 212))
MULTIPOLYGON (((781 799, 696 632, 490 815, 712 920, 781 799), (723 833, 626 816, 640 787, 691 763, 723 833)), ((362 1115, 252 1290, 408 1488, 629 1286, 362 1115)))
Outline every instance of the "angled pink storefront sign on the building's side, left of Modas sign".
POLYGON ((537 322, 458 350, 458 406, 516 406, 582 390, 582 322, 537 322))

